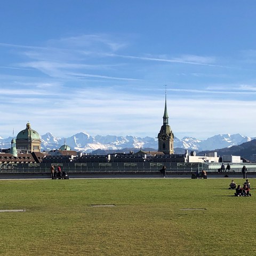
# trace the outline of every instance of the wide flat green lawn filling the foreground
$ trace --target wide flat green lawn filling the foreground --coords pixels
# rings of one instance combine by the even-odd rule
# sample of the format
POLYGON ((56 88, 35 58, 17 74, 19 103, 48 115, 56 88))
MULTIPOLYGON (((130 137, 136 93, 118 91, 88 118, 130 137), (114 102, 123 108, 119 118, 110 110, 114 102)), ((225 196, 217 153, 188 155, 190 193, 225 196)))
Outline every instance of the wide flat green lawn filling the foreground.
POLYGON ((0 255, 256 255, 256 190, 229 183, 0 180, 0 210, 26 210, 0 212, 0 255))

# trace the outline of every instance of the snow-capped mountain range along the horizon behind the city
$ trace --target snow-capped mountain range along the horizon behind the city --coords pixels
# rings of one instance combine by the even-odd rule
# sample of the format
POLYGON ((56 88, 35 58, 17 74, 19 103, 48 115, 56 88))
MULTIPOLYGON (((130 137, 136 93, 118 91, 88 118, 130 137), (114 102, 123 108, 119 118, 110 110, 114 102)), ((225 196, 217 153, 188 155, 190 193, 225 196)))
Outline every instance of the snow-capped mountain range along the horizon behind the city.
MULTIPOLYGON (((156 138, 140 138, 134 136, 118 137, 115 135, 96 135, 95 137, 80 132, 69 138, 55 137, 50 132, 42 135, 41 151, 49 151, 59 149, 66 143, 71 150, 90 153, 96 149, 112 149, 118 150, 123 148, 158 148, 156 138)), ((255 138, 243 136, 241 134, 218 134, 206 140, 198 140, 196 138, 184 137, 183 139, 174 138, 175 148, 184 148, 189 150, 214 150, 240 145, 244 142, 251 141, 255 138)), ((6 149, 11 146, 12 137, 3 139, 0 137, 0 148, 6 149)))

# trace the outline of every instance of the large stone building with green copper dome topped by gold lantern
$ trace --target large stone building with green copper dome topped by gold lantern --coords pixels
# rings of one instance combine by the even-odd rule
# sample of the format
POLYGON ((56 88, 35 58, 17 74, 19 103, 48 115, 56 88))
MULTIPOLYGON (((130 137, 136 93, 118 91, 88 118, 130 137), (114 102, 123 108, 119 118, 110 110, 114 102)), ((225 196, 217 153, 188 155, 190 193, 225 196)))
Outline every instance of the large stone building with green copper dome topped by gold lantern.
POLYGON ((38 132, 32 130, 27 123, 25 130, 20 131, 16 138, 16 148, 25 152, 40 152, 41 138, 38 132))

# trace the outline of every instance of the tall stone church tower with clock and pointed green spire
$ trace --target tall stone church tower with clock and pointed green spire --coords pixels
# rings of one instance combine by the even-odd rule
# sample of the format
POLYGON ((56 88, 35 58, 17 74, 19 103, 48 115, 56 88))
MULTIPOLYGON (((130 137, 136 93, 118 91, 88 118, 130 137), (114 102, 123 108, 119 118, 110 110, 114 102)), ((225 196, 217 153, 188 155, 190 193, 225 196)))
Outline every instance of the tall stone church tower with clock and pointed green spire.
POLYGON ((168 124, 169 116, 167 114, 166 91, 165 91, 165 107, 163 116, 163 125, 158 133, 158 151, 164 154, 174 154, 173 139, 174 135, 170 125, 168 124))

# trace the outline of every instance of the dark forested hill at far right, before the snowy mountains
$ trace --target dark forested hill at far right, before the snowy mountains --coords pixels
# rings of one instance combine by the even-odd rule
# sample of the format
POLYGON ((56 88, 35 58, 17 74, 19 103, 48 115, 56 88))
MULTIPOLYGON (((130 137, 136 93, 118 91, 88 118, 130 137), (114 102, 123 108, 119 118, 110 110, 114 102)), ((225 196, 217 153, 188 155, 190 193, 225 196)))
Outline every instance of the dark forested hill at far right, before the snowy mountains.
POLYGON ((218 155, 233 155, 241 156, 242 158, 253 161, 253 154, 256 154, 256 139, 249 142, 242 143, 241 145, 232 146, 229 148, 221 148, 215 150, 205 150, 201 151, 198 154, 207 154, 212 151, 217 151, 218 155))

